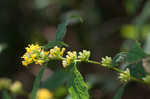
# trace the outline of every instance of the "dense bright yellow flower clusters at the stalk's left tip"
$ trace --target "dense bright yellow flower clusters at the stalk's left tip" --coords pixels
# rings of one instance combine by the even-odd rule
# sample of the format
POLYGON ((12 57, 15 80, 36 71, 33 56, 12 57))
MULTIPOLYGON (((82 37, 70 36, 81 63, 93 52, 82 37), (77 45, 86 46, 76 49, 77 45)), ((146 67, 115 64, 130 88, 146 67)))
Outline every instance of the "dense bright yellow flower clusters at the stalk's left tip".
POLYGON ((26 47, 26 53, 22 56, 24 59, 22 64, 27 66, 31 63, 42 65, 44 62, 47 62, 49 59, 59 59, 63 56, 65 48, 60 49, 55 46, 49 51, 44 51, 44 49, 38 44, 31 44, 26 47))

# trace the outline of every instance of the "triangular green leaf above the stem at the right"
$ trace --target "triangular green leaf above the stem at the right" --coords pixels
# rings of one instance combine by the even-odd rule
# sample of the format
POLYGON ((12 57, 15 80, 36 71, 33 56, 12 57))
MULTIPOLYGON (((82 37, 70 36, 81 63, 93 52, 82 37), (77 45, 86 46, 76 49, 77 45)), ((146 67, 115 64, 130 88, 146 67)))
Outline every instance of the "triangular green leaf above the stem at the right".
POLYGON ((147 54, 144 50, 140 47, 140 44, 136 42, 133 47, 129 50, 126 60, 129 63, 137 62, 143 58, 145 58, 147 54))

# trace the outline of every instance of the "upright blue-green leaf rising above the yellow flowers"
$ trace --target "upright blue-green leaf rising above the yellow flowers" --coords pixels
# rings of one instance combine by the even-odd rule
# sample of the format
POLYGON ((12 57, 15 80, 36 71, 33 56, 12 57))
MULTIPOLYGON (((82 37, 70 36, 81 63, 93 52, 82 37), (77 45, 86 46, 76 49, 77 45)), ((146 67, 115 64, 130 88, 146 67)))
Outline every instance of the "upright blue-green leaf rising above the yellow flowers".
POLYGON ((57 31, 56 31, 56 41, 62 41, 66 31, 67 31, 67 25, 68 25, 68 21, 65 20, 65 22, 63 22, 62 24, 58 25, 57 31))

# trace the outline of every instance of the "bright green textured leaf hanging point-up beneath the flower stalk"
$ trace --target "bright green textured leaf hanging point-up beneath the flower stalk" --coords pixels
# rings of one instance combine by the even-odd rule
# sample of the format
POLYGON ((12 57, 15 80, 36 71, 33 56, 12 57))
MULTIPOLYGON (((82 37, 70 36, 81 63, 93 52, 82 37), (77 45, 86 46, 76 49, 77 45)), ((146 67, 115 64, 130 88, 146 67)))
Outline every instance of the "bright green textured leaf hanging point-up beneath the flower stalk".
POLYGON ((68 91, 72 96, 72 99, 89 99, 87 84, 84 82, 82 75, 76 67, 76 64, 74 64, 70 71, 68 91))

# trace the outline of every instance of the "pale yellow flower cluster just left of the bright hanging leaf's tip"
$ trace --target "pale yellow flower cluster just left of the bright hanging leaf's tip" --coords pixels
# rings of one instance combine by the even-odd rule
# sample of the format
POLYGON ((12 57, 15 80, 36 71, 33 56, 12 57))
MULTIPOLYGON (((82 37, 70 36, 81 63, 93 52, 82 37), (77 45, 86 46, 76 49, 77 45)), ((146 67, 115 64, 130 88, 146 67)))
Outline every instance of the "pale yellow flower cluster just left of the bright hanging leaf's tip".
POLYGON ((68 51, 66 58, 62 61, 62 65, 66 67, 67 65, 73 63, 77 59, 77 52, 76 51, 68 51))

